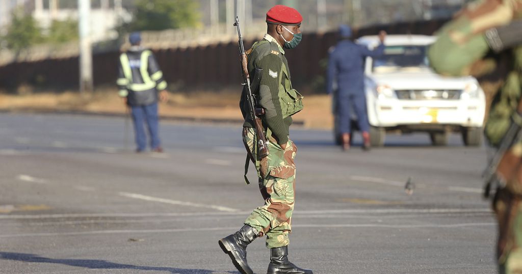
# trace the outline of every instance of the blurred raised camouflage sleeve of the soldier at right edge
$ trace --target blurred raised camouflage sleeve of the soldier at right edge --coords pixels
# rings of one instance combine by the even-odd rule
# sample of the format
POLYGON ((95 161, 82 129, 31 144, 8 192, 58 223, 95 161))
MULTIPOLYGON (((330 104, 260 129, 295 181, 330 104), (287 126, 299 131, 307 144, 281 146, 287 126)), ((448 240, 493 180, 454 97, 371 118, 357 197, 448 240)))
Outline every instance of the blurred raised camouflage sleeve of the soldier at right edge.
POLYGON ((522 7, 522 0, 482 0, 469 4, 438 31, 428 57, 433 69, 449 76, 481 75, 480 61, 490 51, 485 32, 507 25, 522 7))

